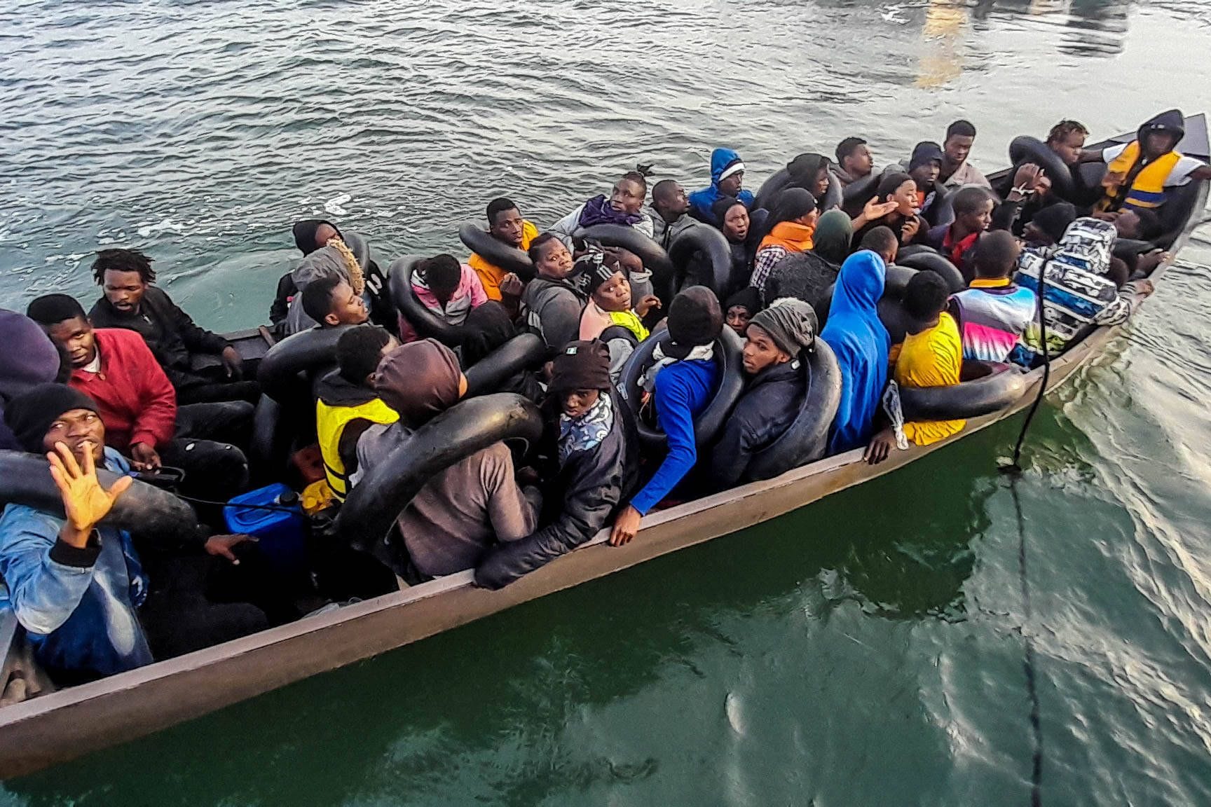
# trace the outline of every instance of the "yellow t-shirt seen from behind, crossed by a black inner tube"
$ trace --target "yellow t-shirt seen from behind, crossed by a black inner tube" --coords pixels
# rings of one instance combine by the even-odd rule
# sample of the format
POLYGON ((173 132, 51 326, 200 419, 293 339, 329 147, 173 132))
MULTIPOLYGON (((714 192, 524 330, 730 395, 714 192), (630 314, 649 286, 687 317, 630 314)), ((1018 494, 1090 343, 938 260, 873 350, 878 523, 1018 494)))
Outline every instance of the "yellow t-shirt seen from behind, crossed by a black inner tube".
MULTIPOLYGON (((932 328, 905 338, 896 359, 895 379, 901 387, 948 387, 963 371, 963 339, 947 312, 932 328)), ((963 431, 965 420, 928 420, 905 423, 905 437, 917 445, 929 445, 963 431)))

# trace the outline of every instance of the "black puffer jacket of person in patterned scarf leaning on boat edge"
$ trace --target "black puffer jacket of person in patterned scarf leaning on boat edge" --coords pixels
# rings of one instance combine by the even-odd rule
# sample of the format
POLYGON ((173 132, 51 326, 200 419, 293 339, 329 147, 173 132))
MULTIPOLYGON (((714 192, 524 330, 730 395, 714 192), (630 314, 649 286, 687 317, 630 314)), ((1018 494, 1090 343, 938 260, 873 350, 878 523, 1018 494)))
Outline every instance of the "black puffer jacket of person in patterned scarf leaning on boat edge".
MULTIPOLYGON (((619 502, 633 492, 639 466, 638 438, 626 404, 616 393, 610 394, 614 426, 609 434, 596 448, 569 455, 559 465, 553 489, 544 491, 544 501, 556 512, 544 513, 544 526, 534 534, 489 549, 475 570, 477 586, 507 586, 572 552, 606 526, 619 502)), ((553 420, 557 430, 558 416, 553 420)))

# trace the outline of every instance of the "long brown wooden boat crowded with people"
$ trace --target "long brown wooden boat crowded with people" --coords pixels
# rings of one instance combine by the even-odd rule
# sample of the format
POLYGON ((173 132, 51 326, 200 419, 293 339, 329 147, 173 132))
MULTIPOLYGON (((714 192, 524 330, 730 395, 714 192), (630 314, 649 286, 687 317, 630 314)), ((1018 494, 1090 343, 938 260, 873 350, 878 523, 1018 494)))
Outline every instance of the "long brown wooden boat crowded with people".
MULTIPOLYGON (((1181 150, 1206 160, 1206 120, 1187 120, 1181 150)), ((1133 133, 1104 142, 1124 142, 1133 133)), ((1004 172, 999 175, 1004 175, 1004 172)), ((995 179, 995 177, 993 177, 995 179)), ((1206 204, 1206 183, 1192 188, 1189 213, 1170 246, 1176 254, 1199 224, 1206 204)), ((1169 264, 1157 269, 1159 278, 1169 264)), ((1048 388, 1057 387, 1100 356, 1118 328, 1098 328, 1051 363, 1048 388)), ((270 344, 260 330, 234 334, 249 358, 270 344)), ((607 544, 607 532, 578 551, 516 583, 488 592, 461 572, 365 603, 271 628, 188 656, 157 662, 81 686, 50 692, 0 708, 0 778, 38 771, 90 751, 150 734, 293 681, 332 670, 492 613, 504 611, 586 581, 610 575, 652 558, 765 521, 830 494, 891 473, 932 451, 1010 417, 1029 407, 1043 384, 1043 370, 1026 376, 1021 397, 1010 407, 972 419, 960 433, 934 445, 894 451, 878 466, 855 450, 713 496, 653 513, 643 519, 635 541, 607 544)), ((19 629, 11 612, 0 616, 4 656, 0 682, 19 658, 19 629)))

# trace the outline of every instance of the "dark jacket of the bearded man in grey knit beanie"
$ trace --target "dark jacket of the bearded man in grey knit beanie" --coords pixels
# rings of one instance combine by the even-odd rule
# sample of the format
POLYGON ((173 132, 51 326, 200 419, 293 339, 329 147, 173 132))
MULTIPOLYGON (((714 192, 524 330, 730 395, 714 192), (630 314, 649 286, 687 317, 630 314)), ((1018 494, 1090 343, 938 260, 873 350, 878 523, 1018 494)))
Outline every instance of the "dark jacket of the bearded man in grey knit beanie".
POLYGON ((748 462, 782 436, 803 405, 803 369, 796 358, 758 373, 731 410, 711 451, 711 484, 718 490, 748 482, 748 462))

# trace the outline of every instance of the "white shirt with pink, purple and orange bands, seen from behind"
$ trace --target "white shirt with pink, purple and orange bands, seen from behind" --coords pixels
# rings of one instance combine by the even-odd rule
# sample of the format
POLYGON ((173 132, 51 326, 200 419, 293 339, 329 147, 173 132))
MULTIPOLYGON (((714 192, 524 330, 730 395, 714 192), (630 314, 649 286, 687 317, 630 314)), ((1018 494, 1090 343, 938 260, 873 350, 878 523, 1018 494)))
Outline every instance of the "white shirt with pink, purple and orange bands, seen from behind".
POLYGON ((1009 278, 971 281, 971 287, 954 294, 963 358, 1004 362, 1018 336, 1034 318, 1034 292, 1009 278))

